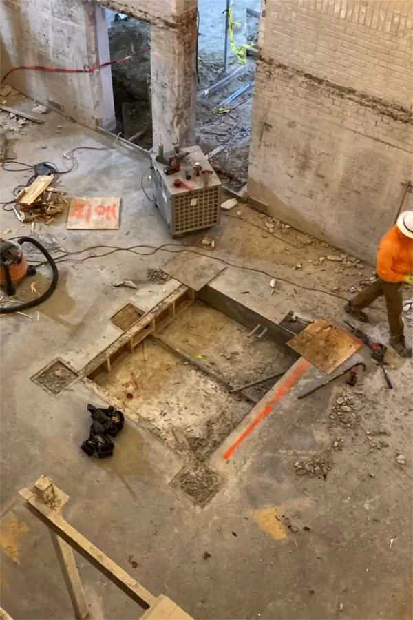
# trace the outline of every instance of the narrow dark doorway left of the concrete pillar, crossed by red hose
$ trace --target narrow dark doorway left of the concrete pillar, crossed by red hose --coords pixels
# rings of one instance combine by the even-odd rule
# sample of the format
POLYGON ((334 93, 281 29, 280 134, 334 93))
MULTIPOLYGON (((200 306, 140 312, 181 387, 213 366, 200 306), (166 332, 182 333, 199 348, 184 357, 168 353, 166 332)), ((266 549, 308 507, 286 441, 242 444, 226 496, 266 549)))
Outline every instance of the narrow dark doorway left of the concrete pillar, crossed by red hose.
MULTIPOLYGON (((111 61, 151 45, 149 23, 106 10, 111 61)), ((151 52, 112 65, 116 134, 145 149, 152 147, 151 52)))

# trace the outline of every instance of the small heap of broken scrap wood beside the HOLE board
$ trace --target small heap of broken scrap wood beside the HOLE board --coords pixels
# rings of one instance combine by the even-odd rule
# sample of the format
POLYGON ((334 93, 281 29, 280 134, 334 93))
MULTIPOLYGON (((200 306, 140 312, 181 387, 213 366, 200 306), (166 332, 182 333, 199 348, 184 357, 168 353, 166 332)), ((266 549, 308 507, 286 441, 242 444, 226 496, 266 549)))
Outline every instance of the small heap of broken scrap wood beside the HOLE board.
POLYGON ((16 197, 17 216, 22 222, 42 220, 46 225, 54 221, 63 209, 69 208, 66 192, 50 187, 53 175, 38 176, 28 187, 23 187, 16 197))

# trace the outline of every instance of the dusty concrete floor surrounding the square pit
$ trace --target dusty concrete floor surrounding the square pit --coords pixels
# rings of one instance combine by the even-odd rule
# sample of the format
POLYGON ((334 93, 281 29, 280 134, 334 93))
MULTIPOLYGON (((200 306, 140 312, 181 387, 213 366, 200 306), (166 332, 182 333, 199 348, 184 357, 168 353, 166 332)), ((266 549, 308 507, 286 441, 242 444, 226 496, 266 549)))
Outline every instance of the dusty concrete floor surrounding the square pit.
MULTIPOLYGON (((8 103, 18 104, 31 107, 19 98, 8 103)), ((19 161, 47 159, 64 169, 62 154, 68 149, 109 145, 99 134, 54 113, 44 118, 47 125, 31 125, 19 136, 19 161)), ((62 176, 58 187, 68 194, 122 196, 120 230, 67 231, 62 218, 40 232, 53 234, 68 251, 169 242, 160 214, 140 189, 145 158, 123 148, 80 151, 76 157, 78 167, 62 176)), ((13 187, 27 178, 23 172, 1 170, 1 200, 8 200, 13 187)), ((227 267, 216 286, 244 301, 249 291, 250 306, 277 320, 289 309, 343 320, 342 300, 301 287, 343 290, 357 284, 358 272, 335 273, 337 263, 328 261, 321 271, 317 256, 333 249, 302 245, 302 236, 290 229, 276 230, 277 240, 258 214, 241 210, 240 218, 223 218, 209 233, 216 240, 213 256, 295 285, 280 281, 272 295, 268 276, 227 267), (298 260, 304 266, 295 269, 298 260)), ((6 236, 17 228, 14 236, 30 234, 29 225, 0 213, 1 231, 12 231, 6 236)), ((201 239, 202 234, 194 234, 182 242, 202 247, 201 239)), ((333 411, 342 384, 297 401, 304 378, 229 462, 222 454, 239 435, 237 429, 213 455, 211 463, 224 484, 204 508, 194 507, 169 486, 185 460, 167 444, 128 422, 112 459, 89 459, 79 446, 89 426, 85 406, 97 403, 96 395, 76 384, 73 391, 54 397, 30 381, 57 356, 80 369, 117 338, 109 318, 134 291, 113 289, 112 281, 127 278, 143 287, 147 267, 169 258, 160 252, 144 258, 119 251, 62 262, 59 287, 39 306, 39 320, 36 309, 28 311, 32 319, 1 317, 1 606, 15 619, 74 617, 50 537, 18 495, 20 488, 47 474, 70 495, 65 517, 73 526, 154 595, 171 597, 194 618, 410 619, 410 361, 392 358, 392 391, 370 362, 364 384, 354 391, 357 424, 352 428, 333 411), (374 439, 386 431, 389 446, 371 448, 367 431, 374 439), (338 439, 343 439, 343 450, 333 454, 334 466, 325 480, 296 475, 297 459, 323 453, 338 439), (405 455, 405 466, 396 463, 396 453, 405 455), (207 559, 205 551, 211 554, 207 559), (131 556, 136 568, 129 563, 131 556)), ((361 271, 368 277, 371 267, 361 271)), ((382 307, 379 303, 371 311, 370 331, 387 338, 382 307)), ((140 609, 94 568, 81 558, 78 566, 92 618, 138 617, 140 609)))

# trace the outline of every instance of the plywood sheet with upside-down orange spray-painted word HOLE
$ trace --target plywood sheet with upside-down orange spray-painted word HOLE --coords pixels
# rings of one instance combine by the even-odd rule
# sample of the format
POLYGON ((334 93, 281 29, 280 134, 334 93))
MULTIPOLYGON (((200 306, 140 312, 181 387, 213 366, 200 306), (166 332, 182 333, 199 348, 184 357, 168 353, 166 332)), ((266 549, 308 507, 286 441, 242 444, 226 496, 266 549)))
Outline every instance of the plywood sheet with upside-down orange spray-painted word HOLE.
POLYGON ((72 198, 67 216, 67 229, 117 230, 120 198, 96 196, 72 198))

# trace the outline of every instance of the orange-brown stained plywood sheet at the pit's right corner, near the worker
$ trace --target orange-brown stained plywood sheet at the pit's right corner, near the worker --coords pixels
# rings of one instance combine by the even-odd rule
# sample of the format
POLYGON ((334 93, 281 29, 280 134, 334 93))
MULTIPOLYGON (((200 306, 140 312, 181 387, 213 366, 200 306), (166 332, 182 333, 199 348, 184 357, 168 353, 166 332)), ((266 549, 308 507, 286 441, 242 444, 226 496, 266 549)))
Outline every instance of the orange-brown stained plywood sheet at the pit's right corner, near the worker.
POLYGON ((328 375, 361 347, 350 334, 324 319, 316 319, 287 344, 328 375))

